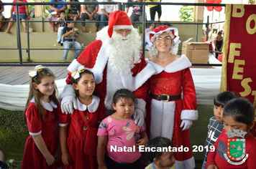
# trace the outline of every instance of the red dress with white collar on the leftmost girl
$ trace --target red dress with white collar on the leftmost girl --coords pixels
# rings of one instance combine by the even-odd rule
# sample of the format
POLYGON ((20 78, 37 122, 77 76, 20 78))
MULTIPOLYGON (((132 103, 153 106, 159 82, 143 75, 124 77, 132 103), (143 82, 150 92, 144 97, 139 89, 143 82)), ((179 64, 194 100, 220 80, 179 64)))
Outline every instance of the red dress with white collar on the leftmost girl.
POLYGON ((53 163, 48 166, 46 160, 40 150, 37 148, 32 135, 42 135, 45 141, 45 145, 51 155, 55 155, 55 151, 58 148, 58 106, 53 102, 47 103, 42 101, 42 105, 45 107, 45 122, 41 122, 37 105, 35 105, 34 99, 30 101, 29 107, 25 115, 27 116, 27 127, 29 130, 29 137, 25 145, 22 169, 37 168, 37 169, 55 169, 57 164, 53 163))

